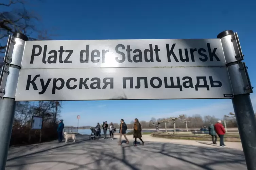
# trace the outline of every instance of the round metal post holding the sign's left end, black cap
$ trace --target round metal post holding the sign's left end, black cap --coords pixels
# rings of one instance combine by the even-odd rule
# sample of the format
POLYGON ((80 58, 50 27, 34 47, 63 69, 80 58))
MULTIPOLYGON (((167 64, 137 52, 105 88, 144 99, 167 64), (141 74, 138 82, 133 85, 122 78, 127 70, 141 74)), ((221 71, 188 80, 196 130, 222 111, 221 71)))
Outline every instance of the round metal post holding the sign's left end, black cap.
POLYGON ((0 170, 5 169, 15 114, 15 93, 25 41, 23 34, 9 37, 0 77, 0 170))

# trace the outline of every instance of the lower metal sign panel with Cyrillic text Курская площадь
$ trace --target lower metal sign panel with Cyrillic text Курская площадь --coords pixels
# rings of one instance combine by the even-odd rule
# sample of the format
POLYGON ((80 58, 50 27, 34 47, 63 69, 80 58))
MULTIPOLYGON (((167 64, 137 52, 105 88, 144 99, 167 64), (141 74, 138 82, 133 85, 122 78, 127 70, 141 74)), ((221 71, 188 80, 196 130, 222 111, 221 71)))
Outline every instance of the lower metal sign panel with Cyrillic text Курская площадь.
POLYGON ((232 98, 226 67, 21 69, 16 101, 232 98))

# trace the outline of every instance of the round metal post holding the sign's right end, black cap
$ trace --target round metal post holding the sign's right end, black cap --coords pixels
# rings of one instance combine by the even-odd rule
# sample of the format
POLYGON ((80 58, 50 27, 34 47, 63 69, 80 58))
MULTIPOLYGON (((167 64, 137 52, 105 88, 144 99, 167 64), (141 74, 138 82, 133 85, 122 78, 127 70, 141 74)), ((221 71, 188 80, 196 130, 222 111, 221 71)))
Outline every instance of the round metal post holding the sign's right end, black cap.
POLYGON ((221 32, 220 38, 229 78, 233 88, 232 99, 238 130, 248 170, 256 170, 256 119, 250 93, 253 92, 237 33, 232 30, 221 32))

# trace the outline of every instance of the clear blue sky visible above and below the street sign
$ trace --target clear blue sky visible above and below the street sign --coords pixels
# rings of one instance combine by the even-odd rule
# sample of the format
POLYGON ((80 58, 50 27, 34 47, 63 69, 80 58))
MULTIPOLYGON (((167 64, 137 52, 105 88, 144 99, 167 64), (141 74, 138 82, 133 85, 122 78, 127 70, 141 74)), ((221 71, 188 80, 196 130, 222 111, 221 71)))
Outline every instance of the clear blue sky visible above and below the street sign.
MULTIPOLYGON (((30 8, 41 17, 42 26, 56 35, 53 40, 205 39, 232 29, 240 37, 244 62, 256 86, 256 1, 44 0, 30 8)), ((255 110, 256 94, 251 99, 255 110)), ((65 125, 76 126, 80 115, 79 126, 94 126, 179 114, 223 118, 229 112, 234 112, 230 99, 63 101, 61 118, 65 125)))

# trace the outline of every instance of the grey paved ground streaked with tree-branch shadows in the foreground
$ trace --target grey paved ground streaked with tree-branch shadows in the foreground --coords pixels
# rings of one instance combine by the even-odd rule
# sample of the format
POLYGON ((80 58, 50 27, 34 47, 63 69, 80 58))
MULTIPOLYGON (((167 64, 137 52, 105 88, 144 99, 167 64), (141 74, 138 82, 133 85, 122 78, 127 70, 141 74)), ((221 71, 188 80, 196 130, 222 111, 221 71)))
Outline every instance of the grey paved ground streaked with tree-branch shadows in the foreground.
POLYGON ((229 148, 207 148, 147 142, 144 146, 118 146, 118 140, 76 142, 14 157, 6 170, 243 170, 243 152, 229 148))

